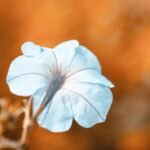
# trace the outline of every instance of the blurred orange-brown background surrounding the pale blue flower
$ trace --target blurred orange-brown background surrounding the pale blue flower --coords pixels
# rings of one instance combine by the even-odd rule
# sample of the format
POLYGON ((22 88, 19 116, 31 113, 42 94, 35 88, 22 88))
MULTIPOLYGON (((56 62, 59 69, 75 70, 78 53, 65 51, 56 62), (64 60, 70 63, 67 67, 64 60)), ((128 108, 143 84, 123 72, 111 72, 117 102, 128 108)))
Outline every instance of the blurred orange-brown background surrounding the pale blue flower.
POLYGON ((149 6, 150 0, 0 0, 0 97, 20 99, 5 79, 25 41, 53 47, 77 39, 116 86, 106 123, 73 123, 66 133, 36 125, 30 150, 150 150, 149 6))

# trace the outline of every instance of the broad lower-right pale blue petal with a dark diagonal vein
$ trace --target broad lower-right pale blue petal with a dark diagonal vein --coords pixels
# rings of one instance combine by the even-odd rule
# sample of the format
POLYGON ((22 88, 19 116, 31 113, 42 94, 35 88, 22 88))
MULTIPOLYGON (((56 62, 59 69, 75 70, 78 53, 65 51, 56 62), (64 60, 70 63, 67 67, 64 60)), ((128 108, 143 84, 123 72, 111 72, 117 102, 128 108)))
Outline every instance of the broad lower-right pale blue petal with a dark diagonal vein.
POLYGON ((72 100, 72 109, 75 120, 81 126, 91 127, 105 121, 112 103, 109 88, 100 84, 67 83, 63 89, 77 96, 76 100, 72 100))

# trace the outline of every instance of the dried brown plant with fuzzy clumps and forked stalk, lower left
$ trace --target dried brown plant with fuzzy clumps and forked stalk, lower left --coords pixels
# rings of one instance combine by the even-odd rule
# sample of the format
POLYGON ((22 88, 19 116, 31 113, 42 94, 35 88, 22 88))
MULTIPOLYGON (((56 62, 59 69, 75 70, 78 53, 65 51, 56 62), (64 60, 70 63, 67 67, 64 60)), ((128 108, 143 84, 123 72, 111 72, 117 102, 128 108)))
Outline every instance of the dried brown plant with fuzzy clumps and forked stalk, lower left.
POLYGON ((32 115, 32 97, 24 100, 23 106, 12 105, 9 99, 0 99, 0 148, 12 148, 24 150, 28 147, 28 136, 34 126, 35 120, 42 110, 39 108, 35 115, 32 115), (22 122, 22 135, 19 140, 6 138, 4 133, 7 130, 14 130, 19 117, 24 114, 22 122))

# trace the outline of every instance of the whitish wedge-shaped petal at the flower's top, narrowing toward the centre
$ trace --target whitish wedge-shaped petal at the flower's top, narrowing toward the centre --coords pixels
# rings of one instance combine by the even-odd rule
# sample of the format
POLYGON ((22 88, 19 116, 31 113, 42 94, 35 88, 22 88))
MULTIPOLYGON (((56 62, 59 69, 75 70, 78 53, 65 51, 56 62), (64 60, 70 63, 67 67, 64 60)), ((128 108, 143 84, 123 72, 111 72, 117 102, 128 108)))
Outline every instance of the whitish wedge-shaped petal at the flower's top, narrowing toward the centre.
POLYGON ((68 69, 68 66, 75 54, 75 48, 79 46, 78 41, 71 40, 63 42, 54 47, 54 54, 56 55, 58 67, 62 70, 68 69))

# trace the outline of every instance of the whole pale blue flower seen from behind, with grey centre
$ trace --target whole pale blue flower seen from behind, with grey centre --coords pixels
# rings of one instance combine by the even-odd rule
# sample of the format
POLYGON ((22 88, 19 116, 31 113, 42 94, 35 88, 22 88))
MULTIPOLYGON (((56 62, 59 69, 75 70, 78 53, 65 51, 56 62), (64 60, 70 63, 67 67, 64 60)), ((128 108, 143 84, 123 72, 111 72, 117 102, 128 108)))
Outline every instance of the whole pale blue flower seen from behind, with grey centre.
POLYGON ((7 83, 16 95, 33 95, 34 112, 44 106, 37 119, 41 127, 62 132, 70 129, 73 118, 86 128, 106 120, 113 84, 91 51, 76 40, 52 49, 26 42, 21 49, 7 83))

